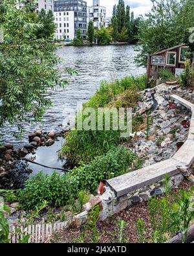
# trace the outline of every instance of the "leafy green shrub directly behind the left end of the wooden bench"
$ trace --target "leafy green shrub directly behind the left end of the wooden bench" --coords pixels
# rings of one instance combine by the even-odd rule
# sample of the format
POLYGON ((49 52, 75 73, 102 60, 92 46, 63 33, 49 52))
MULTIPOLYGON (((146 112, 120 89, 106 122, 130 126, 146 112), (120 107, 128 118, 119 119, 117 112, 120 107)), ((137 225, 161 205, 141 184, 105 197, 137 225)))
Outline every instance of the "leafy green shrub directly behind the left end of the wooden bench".
POLYGON ((137 160, 138 157, 131 150, 118 146, 104 156, 95 157, 88 165, 75 168, 72 173, 79 177, 80 189, 95 192, 101 180, 109 180, 133 170, 137 160))

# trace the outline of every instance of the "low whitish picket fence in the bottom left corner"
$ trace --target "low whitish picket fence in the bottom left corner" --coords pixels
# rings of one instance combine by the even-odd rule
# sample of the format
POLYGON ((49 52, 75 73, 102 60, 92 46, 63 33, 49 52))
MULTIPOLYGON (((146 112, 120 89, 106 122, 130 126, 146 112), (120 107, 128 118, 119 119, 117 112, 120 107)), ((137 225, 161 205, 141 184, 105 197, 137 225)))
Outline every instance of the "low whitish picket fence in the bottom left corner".
POLYGON ((59 231, 67 226, 67 222, 59 222, 54 224, 37 224, 28 227, 10 227, 10 243, 17 244, 19 239, 23 239, 25 235, 30 235, 28 243, 46 243, 52 236, 54 231, 59 231))

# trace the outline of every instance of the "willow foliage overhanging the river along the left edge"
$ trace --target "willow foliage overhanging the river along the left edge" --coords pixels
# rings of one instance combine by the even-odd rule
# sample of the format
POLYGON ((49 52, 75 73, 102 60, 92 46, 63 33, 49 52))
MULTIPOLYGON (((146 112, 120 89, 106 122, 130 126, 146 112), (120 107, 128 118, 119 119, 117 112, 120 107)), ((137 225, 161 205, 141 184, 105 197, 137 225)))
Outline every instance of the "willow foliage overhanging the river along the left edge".
POLYGON ((44 27, 32 15, 36 1, 22 2, 19 9, 16 0, 0 1, 0 127, 40 121, 51 106, 48 89, 67 84, 56 67, 52 35, 39 36, 44 27))

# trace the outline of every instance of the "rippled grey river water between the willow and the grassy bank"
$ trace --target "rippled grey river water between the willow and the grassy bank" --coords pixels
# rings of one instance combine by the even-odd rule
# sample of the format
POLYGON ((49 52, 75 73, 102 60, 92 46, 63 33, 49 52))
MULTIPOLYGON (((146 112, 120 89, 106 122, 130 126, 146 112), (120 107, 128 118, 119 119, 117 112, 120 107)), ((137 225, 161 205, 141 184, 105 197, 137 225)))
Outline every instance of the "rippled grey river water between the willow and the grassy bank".
POLYGON ((56 91, 49 91, 48 97, 52 100, 52 108, 47 110, 42 123, 24 123, 25 134, 21 141, 13 136, 17 132, 16 126, 6 124, 0 129, 3 135, 0 142, 21 147, 28 142, 28 134, 38 128, 59 132, 61 124, 66 124, 72 119, 77 106, 94 95, 102 80, 146 73, 146 69, 135 64, 137 52, 134 45, 62 47, 58 49, 57 54, 62 60, 58 68, 63 76, 67 77, 63 72, 64 67, 78 69, 78 75, 69 78, 70 82, 66 89, 58 87, 56 91))

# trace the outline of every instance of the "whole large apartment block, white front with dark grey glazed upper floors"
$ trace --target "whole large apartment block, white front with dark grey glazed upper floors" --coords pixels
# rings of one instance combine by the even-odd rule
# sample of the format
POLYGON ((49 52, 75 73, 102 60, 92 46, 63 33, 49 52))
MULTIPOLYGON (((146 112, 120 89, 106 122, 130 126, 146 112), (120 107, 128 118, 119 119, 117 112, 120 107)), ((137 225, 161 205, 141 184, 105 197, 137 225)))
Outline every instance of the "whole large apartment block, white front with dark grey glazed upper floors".
POLYGON ((87 32, 87 2, 82 0, 54 1, 54 17, 57 26, 55 38, 58 40, 73 40, 77 30, 86 38, 87 32))

